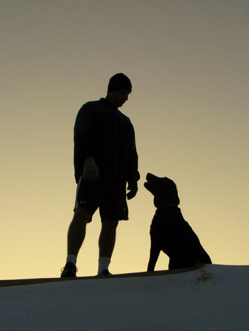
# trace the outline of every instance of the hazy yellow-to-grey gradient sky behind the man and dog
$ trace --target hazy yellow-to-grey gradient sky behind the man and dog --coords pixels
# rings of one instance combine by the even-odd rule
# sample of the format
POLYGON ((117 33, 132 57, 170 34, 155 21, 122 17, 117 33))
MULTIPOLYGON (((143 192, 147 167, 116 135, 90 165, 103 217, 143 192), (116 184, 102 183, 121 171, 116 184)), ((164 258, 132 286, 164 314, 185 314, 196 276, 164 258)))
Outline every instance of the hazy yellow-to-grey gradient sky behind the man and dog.
MULTIPOLYGON (((216 264, 248 264, 248 0, 1 1, 1 279, 59 277, 72 219, 73 126, 81 105, 132 81, 139 192, 110 272, 145 271, 152 195, 176 183, 216 264)), ((79 253, 97 273, 99 212, 79 253)), ((168 268, 161 254, 156 270, 168 268)))

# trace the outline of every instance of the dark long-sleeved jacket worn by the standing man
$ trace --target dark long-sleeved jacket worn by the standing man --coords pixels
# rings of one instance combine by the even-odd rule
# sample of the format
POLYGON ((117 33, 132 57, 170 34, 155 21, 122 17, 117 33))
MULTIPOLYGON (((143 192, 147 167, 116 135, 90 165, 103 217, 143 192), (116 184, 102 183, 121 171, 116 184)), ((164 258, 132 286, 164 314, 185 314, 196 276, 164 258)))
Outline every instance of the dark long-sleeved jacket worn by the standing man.
POLYGON ((139 180, 135 132, 130 119, 106 99, 85 103, 74 125, 74 174, 78 182, 87 157, 103 181, 139 180))

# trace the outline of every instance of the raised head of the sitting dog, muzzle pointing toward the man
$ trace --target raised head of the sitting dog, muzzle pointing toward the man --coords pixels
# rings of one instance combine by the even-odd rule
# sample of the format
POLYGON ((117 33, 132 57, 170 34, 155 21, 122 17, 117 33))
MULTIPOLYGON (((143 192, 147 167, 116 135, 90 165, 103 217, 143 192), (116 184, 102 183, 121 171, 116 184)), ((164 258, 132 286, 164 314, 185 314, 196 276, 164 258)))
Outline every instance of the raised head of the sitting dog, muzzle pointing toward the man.
POLYGON ((156 208, 166 205, 179 205, 177 185, 172 179, 167 177, 157 177, 148 172, 146 176, 145 188, 154 195, 154 204, 156 208))

